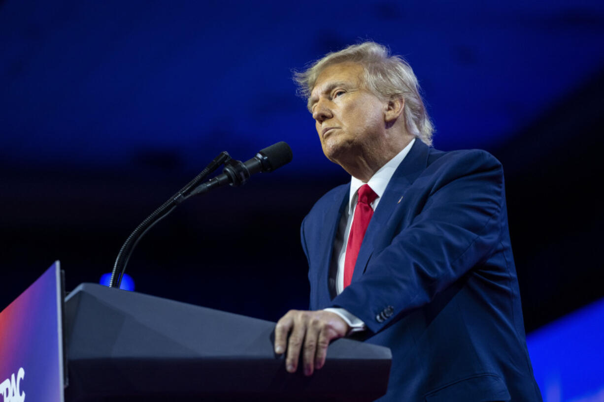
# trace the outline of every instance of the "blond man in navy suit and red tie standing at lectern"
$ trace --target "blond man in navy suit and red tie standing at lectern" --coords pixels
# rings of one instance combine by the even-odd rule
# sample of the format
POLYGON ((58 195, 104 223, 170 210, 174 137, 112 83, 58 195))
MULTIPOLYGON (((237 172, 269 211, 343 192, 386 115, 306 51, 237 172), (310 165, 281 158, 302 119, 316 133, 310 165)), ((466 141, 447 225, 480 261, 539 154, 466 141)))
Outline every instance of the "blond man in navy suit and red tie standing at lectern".
POLYGON ((373 42, 297 74, 323 152, 352 176, 301 227, 310 310, 275 328, 295 372, 359 332, 393 354, 383 401, 539 401, 507 229, 503 170, 431 148, 411 67, 373 42))

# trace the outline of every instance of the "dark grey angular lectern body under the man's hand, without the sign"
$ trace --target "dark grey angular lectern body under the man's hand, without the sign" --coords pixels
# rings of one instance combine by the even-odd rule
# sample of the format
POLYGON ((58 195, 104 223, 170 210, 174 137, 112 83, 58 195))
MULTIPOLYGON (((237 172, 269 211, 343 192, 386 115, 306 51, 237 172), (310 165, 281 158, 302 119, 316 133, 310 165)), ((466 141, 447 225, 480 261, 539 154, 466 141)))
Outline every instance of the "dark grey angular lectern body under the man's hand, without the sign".
POLYGON ((66 299, 68 401, 371 401, 390 349, 349 339, 324 368, 289 374, 274 323, 96 284, 66 299))

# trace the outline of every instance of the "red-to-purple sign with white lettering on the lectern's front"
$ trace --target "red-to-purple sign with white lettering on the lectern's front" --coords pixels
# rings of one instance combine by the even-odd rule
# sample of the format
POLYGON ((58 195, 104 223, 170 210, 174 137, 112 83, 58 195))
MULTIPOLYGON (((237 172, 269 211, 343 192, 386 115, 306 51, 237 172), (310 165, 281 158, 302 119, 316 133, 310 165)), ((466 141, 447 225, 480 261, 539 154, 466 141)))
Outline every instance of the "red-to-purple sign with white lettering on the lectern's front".
POLYGON ((59 261, 0 313, 4 402, 63 402, 59 261))

